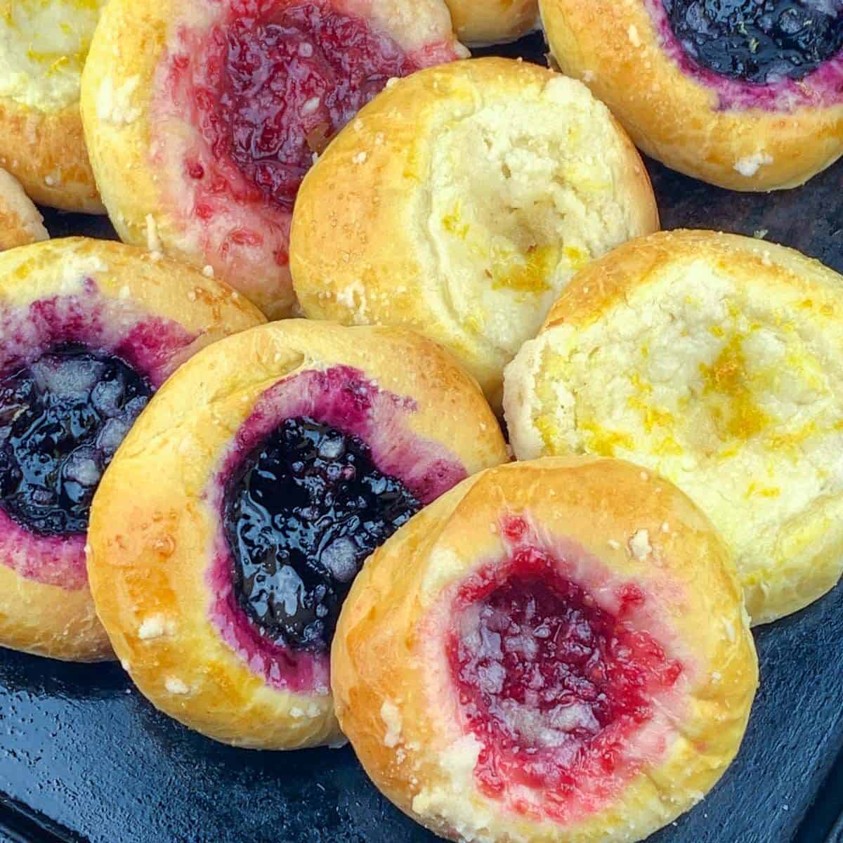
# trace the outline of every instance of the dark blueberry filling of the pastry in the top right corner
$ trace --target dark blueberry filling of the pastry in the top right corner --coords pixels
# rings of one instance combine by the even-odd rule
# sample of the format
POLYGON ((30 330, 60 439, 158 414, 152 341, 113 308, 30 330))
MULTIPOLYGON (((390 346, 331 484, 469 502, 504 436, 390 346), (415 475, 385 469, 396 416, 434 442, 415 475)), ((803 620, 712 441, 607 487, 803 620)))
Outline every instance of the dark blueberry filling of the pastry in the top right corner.
POLYGON ((802 79, 843 50, 843 0, 663 0, 690 58, 754 84, 802 79))

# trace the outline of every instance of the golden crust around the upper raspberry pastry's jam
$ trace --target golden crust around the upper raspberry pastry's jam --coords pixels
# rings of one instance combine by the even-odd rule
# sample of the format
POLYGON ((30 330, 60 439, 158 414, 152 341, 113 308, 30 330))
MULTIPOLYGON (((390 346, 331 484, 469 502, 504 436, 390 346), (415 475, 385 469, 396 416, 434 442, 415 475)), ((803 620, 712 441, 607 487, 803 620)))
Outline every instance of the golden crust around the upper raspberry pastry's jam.
MULTIPOLYGON (((439 40, 443 61, 452 57, 444 56, 447 51, 466 53, 450 29, 443 0, 332 2, 370 13, 408 51, 439 40)), ((195 184, 185 175, 185 160, 168 158, 182 144, 191 148, 198 129, 181 114, 158 113, 163 110, 159 88, 168 83, 164 61, 179 48, 177 30, 188 23, 202 30, 215 14, 196 0, 113 0, 104 10, 83 73, 85 136, 103 200, 122 240, 199 268, 211 266, 267 316, 281 319, 295 312, 289 267, 286 258, 277 258, 288 247, 287 233, 281 231, 284 225, 288 229, 288 221, 282 224, 271 209, 255 210, 228 197, 227 212, 214 217, 214 227, 198 226, 191 205, 195 184), (242 228, 257 232, 265 242, 240 242, 242 228)))

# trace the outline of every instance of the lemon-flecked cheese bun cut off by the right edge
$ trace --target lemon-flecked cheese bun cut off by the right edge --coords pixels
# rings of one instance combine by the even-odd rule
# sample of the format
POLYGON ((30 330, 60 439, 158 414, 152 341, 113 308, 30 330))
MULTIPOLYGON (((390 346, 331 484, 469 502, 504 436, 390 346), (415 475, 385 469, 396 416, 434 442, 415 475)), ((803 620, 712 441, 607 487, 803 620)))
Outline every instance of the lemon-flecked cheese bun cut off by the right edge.
POLYGON ((756 624, 843 567, 843 279, 704 231, 581 272, 507 369, 519 459, 623 457, 674 481, 730 545, 756 624))

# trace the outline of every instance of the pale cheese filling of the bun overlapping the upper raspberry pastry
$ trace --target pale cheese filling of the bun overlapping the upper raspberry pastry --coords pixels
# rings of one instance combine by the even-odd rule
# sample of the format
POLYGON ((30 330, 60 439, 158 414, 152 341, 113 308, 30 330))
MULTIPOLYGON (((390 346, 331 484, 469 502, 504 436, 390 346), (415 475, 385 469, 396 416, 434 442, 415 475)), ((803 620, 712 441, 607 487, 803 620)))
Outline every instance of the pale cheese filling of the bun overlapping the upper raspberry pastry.
POLYGON ((576 271, 629 238, 616 175, 626 153, 608 113, 570 80, 475 100, 429 130, 429 167, 408 172, 431 185, 419 212, 448 317, 505 360, 576 271))

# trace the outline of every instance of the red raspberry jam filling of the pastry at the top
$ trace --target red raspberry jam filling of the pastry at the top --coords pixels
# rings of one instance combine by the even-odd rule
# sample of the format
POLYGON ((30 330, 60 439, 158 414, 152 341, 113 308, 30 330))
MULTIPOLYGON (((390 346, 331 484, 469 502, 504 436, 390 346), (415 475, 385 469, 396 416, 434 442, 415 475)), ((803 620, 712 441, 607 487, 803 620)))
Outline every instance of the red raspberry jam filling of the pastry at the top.
POLYGON ((242 5, 219 35, 223 71, 205 131, 217 158, 232 158, 263 196, 290 210, 314 153, 390 77, 416 67, 362 19, 314 3, 242 5))

